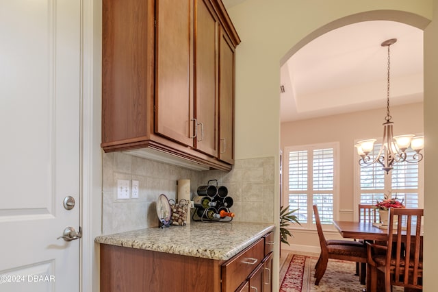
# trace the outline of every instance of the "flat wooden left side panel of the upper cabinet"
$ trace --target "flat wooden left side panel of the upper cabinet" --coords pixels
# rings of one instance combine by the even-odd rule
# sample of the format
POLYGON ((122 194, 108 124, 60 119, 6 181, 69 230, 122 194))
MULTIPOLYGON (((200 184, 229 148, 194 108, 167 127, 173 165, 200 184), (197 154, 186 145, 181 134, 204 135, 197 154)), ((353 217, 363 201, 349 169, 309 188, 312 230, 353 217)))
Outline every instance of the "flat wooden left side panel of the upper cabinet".
POLYGON ((155 12, 138 0, 103 0, 102 10, 102 147, 112 149, 151 132, 155 12))

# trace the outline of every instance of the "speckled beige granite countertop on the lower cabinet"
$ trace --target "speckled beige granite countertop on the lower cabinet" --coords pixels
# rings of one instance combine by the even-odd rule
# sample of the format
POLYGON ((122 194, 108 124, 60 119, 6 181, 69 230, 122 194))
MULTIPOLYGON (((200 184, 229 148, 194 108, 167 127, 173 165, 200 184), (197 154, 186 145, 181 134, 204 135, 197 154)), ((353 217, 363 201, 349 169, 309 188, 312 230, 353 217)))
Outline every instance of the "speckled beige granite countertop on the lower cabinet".
POLYGON ((192 222, 187 226, 100 235, 94 241, 140 250, 228 260, 271 230, 274 230, 274 226, 269 223, 192 222))

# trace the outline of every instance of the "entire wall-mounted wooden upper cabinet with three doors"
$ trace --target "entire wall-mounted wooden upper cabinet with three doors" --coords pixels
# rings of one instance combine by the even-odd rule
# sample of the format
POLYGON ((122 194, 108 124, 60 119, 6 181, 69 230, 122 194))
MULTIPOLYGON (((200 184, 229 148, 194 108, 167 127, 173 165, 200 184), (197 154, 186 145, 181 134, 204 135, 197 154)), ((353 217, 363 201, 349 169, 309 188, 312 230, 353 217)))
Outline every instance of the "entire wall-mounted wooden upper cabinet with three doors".
POLYGON ((155 149, 230 170, 240 39, 222 1, 102 5, 103 150, 155 149))

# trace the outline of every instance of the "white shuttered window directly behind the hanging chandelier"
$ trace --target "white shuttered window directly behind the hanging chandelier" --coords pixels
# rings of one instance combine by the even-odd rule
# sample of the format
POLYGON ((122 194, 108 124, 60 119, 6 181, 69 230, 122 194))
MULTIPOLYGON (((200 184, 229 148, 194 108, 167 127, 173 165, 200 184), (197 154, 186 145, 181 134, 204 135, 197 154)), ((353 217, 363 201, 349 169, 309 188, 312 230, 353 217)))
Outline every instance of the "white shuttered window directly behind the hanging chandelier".
MULTIPOLYGON (((380 148, 381 144, 374 144, 372 156, 375 157, 380 148)), ((408 157, 412 157, 415 151, 409 148, 407 154, 408 157)), ((385 193, 391 192, 391 197, 404 199, 407 208, 423 208, 422 162, 398 162, 388 174, 378 163, 370 166, 357 164, 357 169, 357 197, 360 204, 376 204, 376 200, 383 199, 385 193)))

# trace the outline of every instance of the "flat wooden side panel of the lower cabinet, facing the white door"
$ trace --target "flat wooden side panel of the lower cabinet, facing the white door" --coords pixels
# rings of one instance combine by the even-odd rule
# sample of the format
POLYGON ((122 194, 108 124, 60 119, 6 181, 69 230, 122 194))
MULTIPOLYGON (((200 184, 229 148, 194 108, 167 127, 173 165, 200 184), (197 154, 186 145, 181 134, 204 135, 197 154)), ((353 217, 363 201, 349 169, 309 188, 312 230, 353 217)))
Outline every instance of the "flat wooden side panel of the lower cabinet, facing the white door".
POLYGON ((223 260, 101 244, 101 292, 218 292, 223 260))

